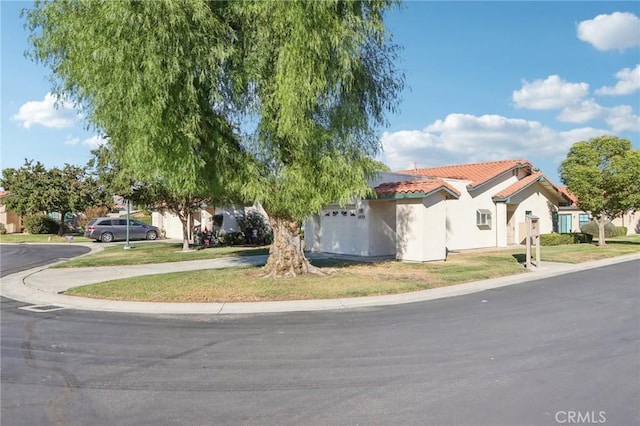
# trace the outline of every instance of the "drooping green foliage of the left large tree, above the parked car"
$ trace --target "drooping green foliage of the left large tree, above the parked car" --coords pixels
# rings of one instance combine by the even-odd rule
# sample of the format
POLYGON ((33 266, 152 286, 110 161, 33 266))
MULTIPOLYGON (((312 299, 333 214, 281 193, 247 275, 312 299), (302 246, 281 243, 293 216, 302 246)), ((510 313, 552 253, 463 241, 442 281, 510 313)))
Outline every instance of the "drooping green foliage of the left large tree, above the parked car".
POLYGON ((106 133, 124 169, 168 188, 215 192, 239 161, 223 2, 38 1, 31 55, 55 93, 106 133), (221 166, 224 165, 224 166, 221 166))

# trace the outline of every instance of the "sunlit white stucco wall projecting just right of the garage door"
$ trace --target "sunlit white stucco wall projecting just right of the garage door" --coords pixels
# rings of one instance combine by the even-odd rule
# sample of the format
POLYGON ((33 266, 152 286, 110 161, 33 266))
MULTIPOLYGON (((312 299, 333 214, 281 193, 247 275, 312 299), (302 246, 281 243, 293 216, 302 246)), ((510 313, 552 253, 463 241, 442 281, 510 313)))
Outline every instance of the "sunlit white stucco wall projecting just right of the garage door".
POLYGON ((446 204, 442 192, 396 200, 396 257, 425 262, 446 258, 446 204))

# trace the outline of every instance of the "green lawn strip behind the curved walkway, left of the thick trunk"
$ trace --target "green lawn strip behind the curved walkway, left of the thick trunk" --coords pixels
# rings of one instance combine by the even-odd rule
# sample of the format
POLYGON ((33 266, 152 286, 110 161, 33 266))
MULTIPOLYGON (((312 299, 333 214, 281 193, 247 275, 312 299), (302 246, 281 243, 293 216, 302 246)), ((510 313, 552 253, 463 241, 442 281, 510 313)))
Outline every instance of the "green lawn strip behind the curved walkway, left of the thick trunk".
POLYGON ((213 247, 204 250, 182 252, 182 244, 145 243, 135 244, 131 250, 124 250, 124 244, 105 247, 103 251, 61 263, 56 268, 90 266, 145 265, 150 263, 181 262, 185 260, 217 259, 230 256, 251 256, 267 254, 266 247, 213 247))

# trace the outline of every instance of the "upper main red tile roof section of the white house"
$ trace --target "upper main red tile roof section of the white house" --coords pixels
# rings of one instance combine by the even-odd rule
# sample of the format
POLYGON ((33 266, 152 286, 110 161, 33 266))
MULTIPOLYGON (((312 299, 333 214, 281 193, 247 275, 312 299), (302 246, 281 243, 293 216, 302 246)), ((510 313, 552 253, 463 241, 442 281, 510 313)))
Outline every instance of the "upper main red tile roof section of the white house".
POLYGON ((431 167, 425 169, 402 170, 400 173, 428 177, 470 180, 469 188, 475 188, 490 179, 509 170, 520 167, 531 167, 527 160, 503 160, 487 163, 459 164, 453 166, 431 167))

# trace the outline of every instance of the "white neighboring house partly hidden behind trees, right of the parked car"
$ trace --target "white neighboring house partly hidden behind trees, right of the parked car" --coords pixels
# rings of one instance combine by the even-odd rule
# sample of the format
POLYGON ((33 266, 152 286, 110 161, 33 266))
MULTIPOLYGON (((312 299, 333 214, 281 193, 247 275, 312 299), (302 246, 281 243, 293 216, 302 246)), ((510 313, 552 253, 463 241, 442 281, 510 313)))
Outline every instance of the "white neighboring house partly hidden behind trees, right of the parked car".
MULTIPOLYGON (((255 204, 249 207, 203 207, 193 213, 191 217, 191 227, 200 226, 203 230, 205 228, 213 230, 216 227, 214 223, 222 223, 220 227, 221 234, 243 232, 243 229, 239 229, 236 218, 244 216, 252 210, 262 214, 268 223, 268 216, 262 206, 255 204)), ((166 210, 156 211, 151 213, 151 222, 152 225, 164 230, 165 237, 182 239, 182 222, 180 222, 176 214, 166 210)))

